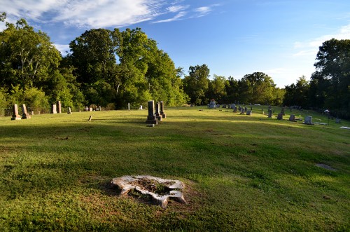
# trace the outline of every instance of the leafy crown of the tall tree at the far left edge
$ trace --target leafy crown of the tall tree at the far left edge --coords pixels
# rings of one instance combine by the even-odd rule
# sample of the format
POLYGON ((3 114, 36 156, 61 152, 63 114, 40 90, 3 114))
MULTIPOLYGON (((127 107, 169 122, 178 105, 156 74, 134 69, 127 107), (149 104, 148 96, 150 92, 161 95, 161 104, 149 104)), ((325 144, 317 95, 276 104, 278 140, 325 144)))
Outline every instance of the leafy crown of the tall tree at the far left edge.
POLYGON ((47 34, 34 32, 24 19, 16 25, 6 23, 6 29, 0 32, 0 82, 8 90, 11 85, 20 85, 22 90, 40 87, 60 60, 47 34))

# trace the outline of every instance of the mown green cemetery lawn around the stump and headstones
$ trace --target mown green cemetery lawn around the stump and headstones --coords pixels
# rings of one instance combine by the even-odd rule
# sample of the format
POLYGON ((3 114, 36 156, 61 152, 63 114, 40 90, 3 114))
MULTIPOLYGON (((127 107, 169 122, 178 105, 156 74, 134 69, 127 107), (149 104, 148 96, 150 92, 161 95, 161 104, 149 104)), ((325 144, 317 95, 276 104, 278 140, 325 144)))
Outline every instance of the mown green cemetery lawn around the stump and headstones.
POLYGON ((2 117, 0 231, 349 231, 349 121, 255 108, 166 108, 155 128, 147 110, 2 117), (179 179, 188 204, 118 196, 123 175, 179 179))

